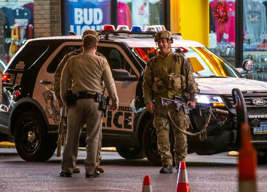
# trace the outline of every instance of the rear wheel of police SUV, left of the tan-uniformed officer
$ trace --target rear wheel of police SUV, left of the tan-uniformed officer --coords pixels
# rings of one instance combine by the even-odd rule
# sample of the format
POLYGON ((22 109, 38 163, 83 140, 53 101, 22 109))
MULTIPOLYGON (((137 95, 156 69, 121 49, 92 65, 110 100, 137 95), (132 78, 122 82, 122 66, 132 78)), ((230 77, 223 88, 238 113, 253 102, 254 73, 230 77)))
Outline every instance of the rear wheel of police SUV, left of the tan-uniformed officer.
POLYGON ((56 143, 47 133, 47 125, 38 111, 23 113, 15 127, 15 146, 25 161, 47 161, 56 149, 56 143))

